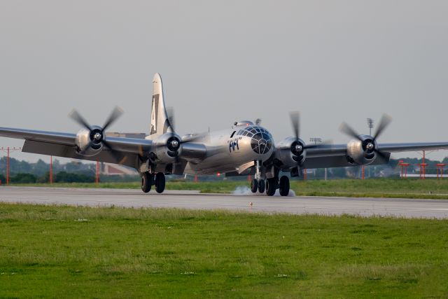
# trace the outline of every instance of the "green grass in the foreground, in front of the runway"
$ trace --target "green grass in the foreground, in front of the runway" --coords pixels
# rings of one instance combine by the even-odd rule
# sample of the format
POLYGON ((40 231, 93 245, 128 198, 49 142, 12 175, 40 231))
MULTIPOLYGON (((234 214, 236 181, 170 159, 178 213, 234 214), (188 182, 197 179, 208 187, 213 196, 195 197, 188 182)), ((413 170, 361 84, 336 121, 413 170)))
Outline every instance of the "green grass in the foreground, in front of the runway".
POLYGON ((448 221, 0 204, 0 298, 446 298, 448 221))

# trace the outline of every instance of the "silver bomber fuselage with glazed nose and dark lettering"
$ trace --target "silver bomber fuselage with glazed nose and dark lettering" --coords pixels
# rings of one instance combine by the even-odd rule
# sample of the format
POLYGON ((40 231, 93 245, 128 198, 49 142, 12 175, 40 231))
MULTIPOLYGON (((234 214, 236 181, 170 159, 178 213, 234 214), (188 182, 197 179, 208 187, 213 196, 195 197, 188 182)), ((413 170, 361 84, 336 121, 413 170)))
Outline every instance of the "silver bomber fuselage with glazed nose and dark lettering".
POLYGON ((204 144, 207 155, 200 161, 190 161, 186 174, 217 174, 235 172, 242 165, 269 159, 274 151, 272 135, 258 125, 237 125, 232 130, 204 134, 195 142, 204 144))

